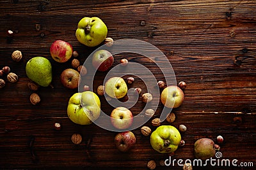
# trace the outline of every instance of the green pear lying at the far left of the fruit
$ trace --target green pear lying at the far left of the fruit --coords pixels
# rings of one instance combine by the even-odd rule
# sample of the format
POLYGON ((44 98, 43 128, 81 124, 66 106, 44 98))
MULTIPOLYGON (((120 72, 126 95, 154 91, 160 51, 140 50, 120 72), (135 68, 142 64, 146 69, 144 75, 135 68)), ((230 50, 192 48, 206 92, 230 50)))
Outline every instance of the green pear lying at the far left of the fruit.
POLYGON ((26 64, 28 78, 38 85, 47 87, 52 81, 52 65, 45 57, 33 57, 26 64))

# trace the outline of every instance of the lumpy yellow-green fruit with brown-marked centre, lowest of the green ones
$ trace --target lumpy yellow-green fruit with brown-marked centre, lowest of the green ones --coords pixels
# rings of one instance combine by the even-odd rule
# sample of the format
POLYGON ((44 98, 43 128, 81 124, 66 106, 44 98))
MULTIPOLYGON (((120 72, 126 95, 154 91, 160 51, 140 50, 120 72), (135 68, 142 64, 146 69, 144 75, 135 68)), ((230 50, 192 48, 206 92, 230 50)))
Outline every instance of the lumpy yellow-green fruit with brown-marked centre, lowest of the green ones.
POLYGON ((161 125, 150 136, 152 148, 159 153, 175 152, 180 140, 180 132, 172 125, 161 125))

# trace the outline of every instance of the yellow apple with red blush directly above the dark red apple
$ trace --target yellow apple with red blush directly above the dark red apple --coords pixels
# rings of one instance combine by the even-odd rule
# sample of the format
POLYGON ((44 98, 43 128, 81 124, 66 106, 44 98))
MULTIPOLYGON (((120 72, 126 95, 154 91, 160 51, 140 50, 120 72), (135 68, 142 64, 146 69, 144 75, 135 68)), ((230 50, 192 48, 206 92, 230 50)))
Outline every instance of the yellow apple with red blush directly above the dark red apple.
POLYGON ((115 108, 110 115, 111 124, 117 129, 127 129, 132 125, 132 112, 124 107, 115 108))

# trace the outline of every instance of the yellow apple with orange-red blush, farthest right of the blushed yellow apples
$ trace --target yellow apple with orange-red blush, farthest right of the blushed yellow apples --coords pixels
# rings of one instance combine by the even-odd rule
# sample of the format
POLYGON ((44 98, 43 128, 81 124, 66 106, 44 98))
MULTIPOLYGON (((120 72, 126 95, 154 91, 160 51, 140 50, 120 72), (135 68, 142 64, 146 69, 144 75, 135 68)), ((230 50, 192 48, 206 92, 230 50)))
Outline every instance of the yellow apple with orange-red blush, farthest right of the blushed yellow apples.
POLYGON ((184 93, 179 87, 172 85, 163 90, 160 98, 167 108, 178 108, 184 101, 184 93))

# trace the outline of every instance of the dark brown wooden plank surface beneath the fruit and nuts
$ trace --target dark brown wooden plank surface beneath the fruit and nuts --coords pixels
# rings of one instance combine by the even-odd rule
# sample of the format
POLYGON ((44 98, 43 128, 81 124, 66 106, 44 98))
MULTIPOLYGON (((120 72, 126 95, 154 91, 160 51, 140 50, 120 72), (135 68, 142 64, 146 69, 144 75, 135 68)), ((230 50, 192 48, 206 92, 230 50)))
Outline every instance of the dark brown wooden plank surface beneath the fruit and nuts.
MULTIPOLYGON (((108 37, 140 39, 157 46, 172 64, 177 82, 186 81, 185 100, 173 110, 177 119, 172 124, 188 127, 182 133, 186 145, 175 152, 173 159, 193 160, 196 139, 216 141, 221 134, 225 138, 221 145, 223 159, 253 162, 256 166, 255 1, 15 0, 1 1, 0 5, 0 67, 10 66, 19 76, 17 83, 7 82, 0 89, 1 169, 147 169, 149 160, 156 160, 156 169, 182 169, 177 165, 160 166, 159 160, 168 159, 168 155, 155 152, 140 129, 132 131, 137 139, 135 148, 121 153, 114 145, 116 132, 94 124, 76 125, 68 119, 68 99, 77 89, 65 89, 60 73, 71 67, 70 61, 54 62, 49 48, 56 39, 68 41, 83 63, 96 47, 88 48, 77 41, 77 23, 83 17, 94 16, 106 23, 108 37), (40 24, 39 31, 36 24, 40 24), (6 34, 8 30, 15 32, 12 39, 6 34), (14 50, 23 53, 20 62, 11 59, 14 50), (33 106, 29 102, 32 91, 27 86, 25 66, 36 56, 51 61, 54 89, 40 88, 42 101, 33 106), (235 117, 241 117, 242 122, 234 122, 235 117), (60 122, 61 131, 52 127, 55 122, 60 122), (80 145, 70 140, 75 132, 83 136, 80 145)), ((121 57, 124 56, 116 56, 114 66, 121 57)), ((164 80, 159 69, 145 57, 127 55, 127 59, 143 64, 157 80, 164 80)), ((96 74, 94 92, 105 75, 96 74)), ((141 82, 136 80, 129 87, 139 87, 141 82)), ((100 100, 104 111, 110 113, 113 108, 103 97, 100 100)), ((142 108, 139 100, 131 110, 136 113, 142 108)), ((162 109, 159 104, 154 117, 159 117, 162 109)), ((150 121, 145 125, 156 129, 150 121)), ((209 166, 208 169, 234 168, 209 166)))

